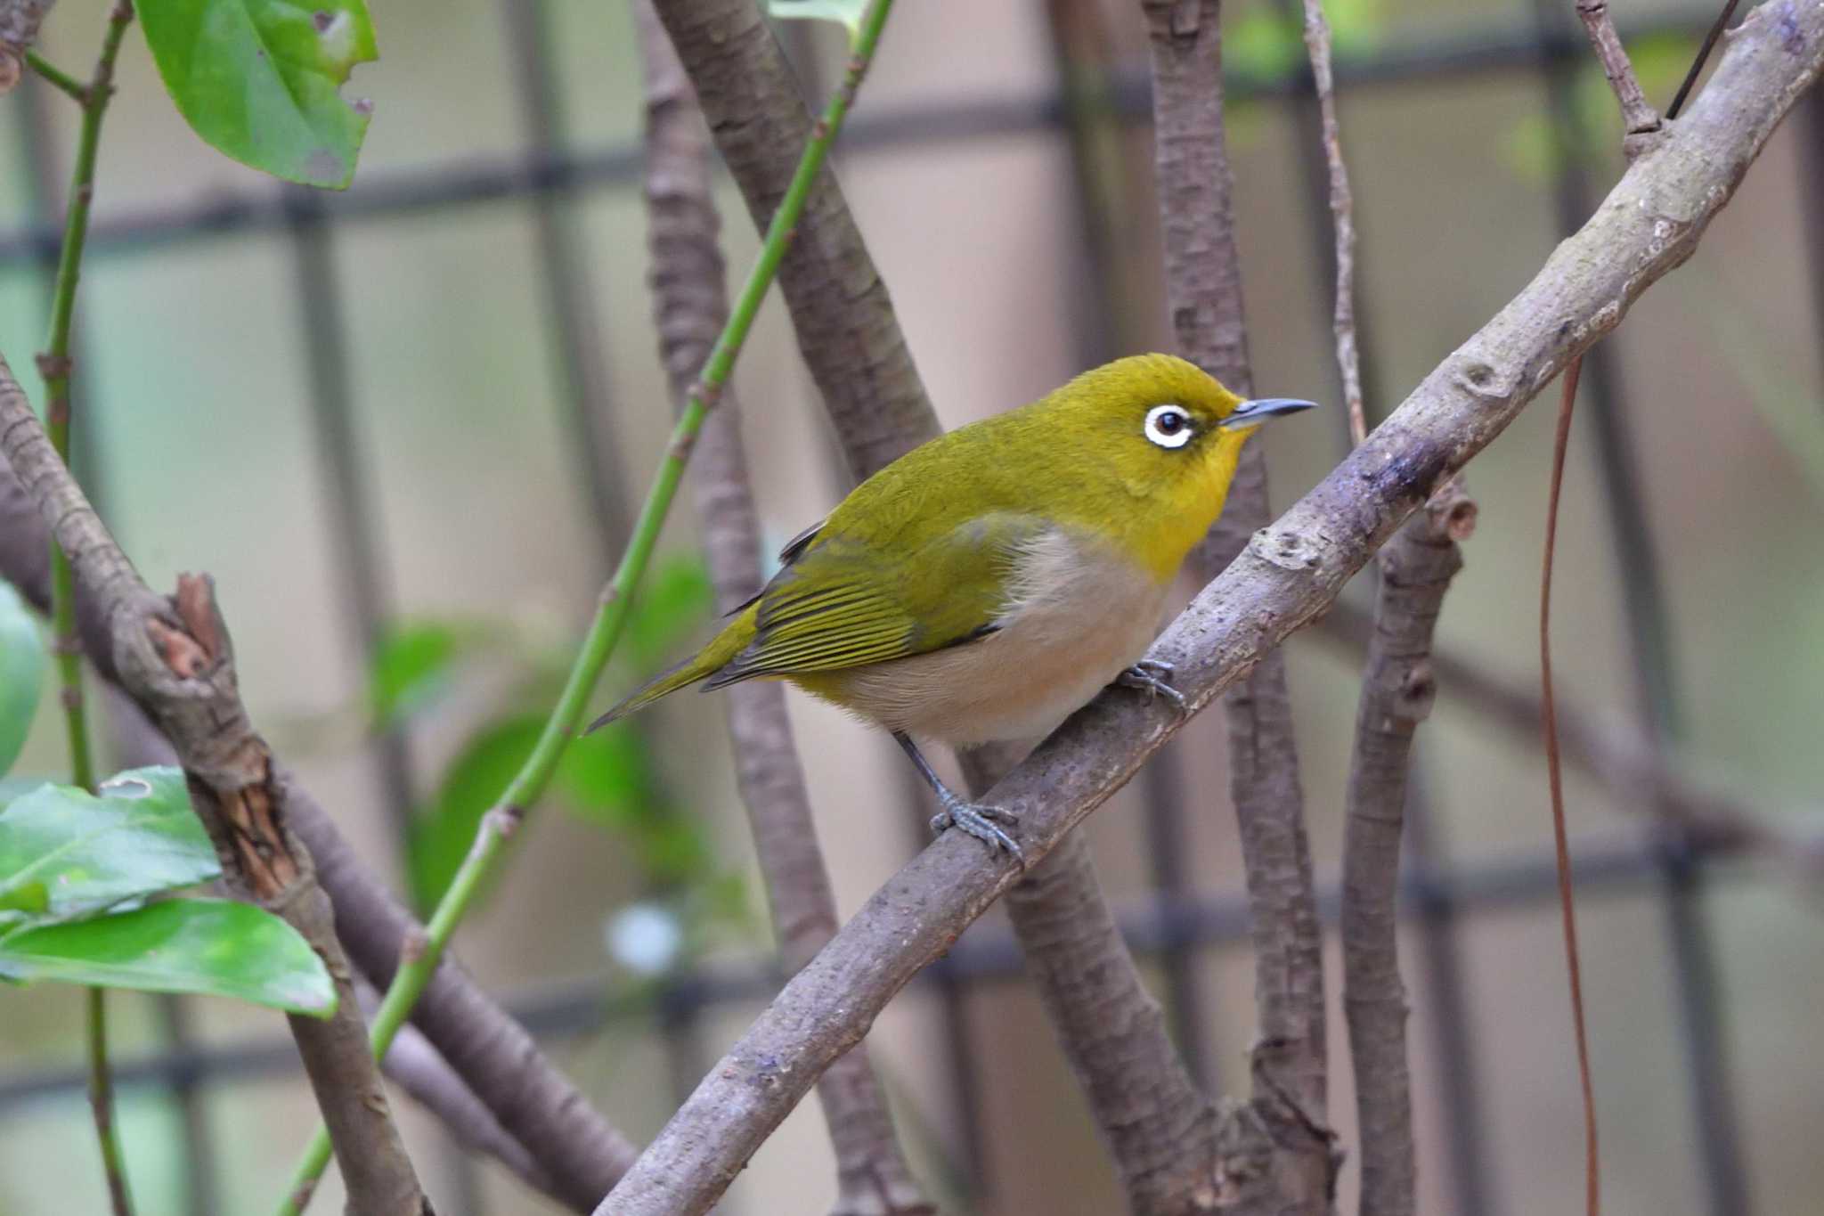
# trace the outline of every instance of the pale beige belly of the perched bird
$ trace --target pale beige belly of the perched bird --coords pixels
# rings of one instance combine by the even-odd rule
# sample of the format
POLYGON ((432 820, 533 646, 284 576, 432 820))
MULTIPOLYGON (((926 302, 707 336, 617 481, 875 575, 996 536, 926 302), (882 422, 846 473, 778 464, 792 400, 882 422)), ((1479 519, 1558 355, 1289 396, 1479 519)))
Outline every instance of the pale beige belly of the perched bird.
POLYGON ((976 642, 793 676, 890 731, 943 744, 1042 738, 1145 654, 1166 589, 1124 560, 1074 554, 1065 578, 976 642))

